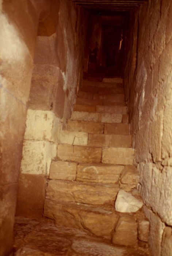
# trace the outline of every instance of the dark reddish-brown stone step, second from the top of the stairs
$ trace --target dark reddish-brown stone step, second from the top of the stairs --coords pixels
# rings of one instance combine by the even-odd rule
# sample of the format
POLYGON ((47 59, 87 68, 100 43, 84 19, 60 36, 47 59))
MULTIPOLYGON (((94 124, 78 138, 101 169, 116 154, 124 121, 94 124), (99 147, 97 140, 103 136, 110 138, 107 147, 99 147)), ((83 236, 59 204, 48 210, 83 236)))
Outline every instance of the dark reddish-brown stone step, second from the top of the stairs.
POLYGON ((124 93, 123 87, 97 87, 97 86, 82 86, 81 91, 88 93, 100 93, 100 94, 112 94, 112 93, 124 93))

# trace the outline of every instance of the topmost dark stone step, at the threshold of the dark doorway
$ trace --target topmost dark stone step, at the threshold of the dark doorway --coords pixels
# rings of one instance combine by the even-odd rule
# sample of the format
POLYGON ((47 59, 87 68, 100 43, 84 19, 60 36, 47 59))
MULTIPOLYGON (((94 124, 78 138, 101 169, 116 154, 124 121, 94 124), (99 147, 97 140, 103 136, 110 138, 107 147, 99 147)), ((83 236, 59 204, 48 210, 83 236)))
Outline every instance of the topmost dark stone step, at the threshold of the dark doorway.
POLYGON ((98 82, 98 81, 89 81, 83 80, 82 86, 92 86, 98 88, 123 88, 122 82, 98 82))

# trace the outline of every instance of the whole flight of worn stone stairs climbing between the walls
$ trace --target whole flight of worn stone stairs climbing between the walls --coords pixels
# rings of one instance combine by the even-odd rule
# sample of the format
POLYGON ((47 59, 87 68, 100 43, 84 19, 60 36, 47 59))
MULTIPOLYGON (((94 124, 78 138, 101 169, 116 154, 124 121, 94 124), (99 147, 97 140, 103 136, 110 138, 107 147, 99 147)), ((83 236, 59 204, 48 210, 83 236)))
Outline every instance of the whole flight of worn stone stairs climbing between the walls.
POLYGON ((122 83, 84 80, 73 110, 51 163, 44 216, 114 244, 147 242, 122 83))

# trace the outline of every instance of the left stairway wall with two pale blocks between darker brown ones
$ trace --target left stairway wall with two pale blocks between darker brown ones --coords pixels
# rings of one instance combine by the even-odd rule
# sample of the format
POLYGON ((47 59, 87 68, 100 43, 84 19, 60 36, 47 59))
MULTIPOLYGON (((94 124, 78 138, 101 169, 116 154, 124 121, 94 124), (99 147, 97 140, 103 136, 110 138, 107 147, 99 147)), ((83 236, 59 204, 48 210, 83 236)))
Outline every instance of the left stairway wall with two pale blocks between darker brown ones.
POLYGON ((16 215, 32 218, 43 212, 58 134, 81 80, 87 31, 86 13, 69 0, 51 1, 40 17, 16 210, 16 215))

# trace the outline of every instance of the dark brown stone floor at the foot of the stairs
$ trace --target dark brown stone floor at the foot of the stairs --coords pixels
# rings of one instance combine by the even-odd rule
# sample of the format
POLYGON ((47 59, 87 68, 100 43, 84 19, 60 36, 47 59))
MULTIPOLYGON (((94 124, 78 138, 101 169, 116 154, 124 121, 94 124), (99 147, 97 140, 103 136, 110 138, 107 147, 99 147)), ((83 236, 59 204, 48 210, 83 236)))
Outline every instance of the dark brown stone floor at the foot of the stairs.
POLYGON ((50 219, 16 218, 14 256, 148 256, 147 248, 112 246, 80 229, 56 227, 50 219))

